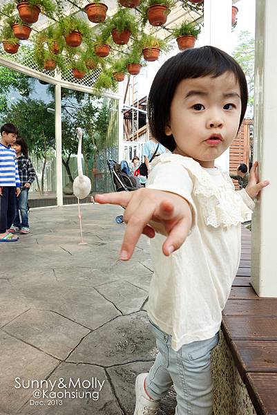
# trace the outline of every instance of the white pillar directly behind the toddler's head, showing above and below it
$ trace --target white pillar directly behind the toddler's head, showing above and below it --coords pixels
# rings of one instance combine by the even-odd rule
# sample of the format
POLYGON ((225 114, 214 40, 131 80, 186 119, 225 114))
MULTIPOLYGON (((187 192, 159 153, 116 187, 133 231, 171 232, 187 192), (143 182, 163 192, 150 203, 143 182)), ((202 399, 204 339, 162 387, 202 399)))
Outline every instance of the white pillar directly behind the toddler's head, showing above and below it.
MULTIPOLYGON (((231 53, 231 17, 232 0, 204 0, 204 45, 231 53)), ((229 171, 229 149, 216 164, 229 171)))

